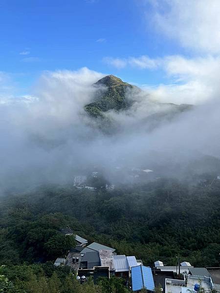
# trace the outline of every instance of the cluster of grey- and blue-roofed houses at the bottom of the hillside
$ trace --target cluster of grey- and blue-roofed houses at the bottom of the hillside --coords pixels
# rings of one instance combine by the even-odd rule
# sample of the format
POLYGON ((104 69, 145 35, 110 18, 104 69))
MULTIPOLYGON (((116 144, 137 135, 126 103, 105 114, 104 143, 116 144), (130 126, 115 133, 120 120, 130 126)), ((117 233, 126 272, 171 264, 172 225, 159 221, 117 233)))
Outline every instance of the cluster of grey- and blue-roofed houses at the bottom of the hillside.
MULTIPOLYGON (((66 236, 73 235, 69 227, 61 231, 66 236)), ((154 292, 158 287, 165 293, 196 293, 199 286, 206 292, 220 291, 220 268, 194 268, 190 263, 182 262, 177 274, 177 266, 164 266, 161 261, 156 261, 152 267, 144 266, 134 255, 117 255, 114 248, 96 242, 88 245, 88 240, 79 235, 75 235, 75 240, 77 246, 66 258, 57 258, 54 265, 69 266, 80 282, 88 277, 95 282, 100 276, 110 278, 114 275, 123 277, 134 292, 142 289, 154 292)))

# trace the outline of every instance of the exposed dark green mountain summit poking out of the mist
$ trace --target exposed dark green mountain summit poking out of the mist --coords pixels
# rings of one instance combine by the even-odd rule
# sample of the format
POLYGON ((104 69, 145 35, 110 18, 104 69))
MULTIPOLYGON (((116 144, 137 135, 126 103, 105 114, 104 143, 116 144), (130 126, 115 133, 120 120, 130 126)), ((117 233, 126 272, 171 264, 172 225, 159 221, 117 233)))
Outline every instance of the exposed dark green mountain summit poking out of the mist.
POLYGON ((103 112, 108 110, 128 109, 132 100, 126 97, 130 91, 141 91, 132 84, 124 83, 120 78, 108 75, 93 84, 98 88, 94 102, 85 106, 85 110, 93 117, 103 117, 103 112))

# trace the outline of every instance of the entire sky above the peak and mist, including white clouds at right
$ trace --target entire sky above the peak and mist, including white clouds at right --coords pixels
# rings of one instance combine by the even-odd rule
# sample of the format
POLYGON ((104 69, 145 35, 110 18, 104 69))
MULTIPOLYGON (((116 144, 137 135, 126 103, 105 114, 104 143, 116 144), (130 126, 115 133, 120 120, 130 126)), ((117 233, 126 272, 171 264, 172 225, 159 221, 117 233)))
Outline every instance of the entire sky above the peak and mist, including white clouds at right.
POLYGON ((218 88, 219 14, 219 0, 1 0, 0 85, 24 95, 44 71, 86 66, 196 101, 218 88))

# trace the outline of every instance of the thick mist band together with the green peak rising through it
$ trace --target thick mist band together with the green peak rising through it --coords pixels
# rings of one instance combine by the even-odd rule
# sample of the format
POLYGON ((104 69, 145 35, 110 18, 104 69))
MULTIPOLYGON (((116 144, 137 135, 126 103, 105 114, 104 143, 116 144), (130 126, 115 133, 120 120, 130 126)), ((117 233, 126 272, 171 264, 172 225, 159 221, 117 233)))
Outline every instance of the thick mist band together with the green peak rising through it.
POLYGON ((30 96, 4 98, 1 190, 72 182, 73 175, 94 166, 107 178, 115 166, 155 168, 182 178, 187 165, 204 155, 219 158, 218 102, 160 103, 145 90, 103 77, 87 68, 47 72, 30 96), (97 107, 98 117, 88 107, 97 107), (109 125, 113 131, 106 134, 109 125))

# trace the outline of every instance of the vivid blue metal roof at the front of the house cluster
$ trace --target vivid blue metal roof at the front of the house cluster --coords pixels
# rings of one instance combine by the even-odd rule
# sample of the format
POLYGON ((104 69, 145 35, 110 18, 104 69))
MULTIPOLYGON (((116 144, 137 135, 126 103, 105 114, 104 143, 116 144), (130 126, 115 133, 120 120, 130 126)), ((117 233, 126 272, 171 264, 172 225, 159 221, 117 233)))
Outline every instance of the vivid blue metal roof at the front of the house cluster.
POLYGON ((154 291, 154 278, 151 268, 145 266, 132 267, 132 291, 141 289, 154 291))

